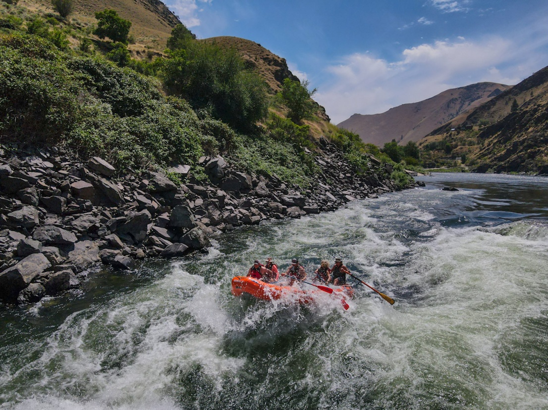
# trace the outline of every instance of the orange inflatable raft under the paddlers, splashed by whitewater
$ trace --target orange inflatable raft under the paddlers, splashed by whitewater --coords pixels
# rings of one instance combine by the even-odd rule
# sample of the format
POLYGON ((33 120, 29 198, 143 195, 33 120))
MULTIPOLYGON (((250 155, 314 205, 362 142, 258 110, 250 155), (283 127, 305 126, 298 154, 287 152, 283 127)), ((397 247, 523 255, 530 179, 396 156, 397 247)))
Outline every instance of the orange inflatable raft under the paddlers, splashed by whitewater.
MULTIPOLYGON (((333 286, 332 289, 333 293, 330 295, 342 297, 343 306, 348 306, 346 302, 344 302, 344 297, 352 297, 354 295, 352 286, 333 286)), ((327 292, 319 289, 304 290, 295 286, 266 283, 249 276, 233 277, 232 294, 234 296, 241 296, 243 293, 247 293, 261 300, 278 300, 282 297, 288 297, 294 298, 294 300, 299 303, 310 303, 319 294, 326 294, 327 292)))

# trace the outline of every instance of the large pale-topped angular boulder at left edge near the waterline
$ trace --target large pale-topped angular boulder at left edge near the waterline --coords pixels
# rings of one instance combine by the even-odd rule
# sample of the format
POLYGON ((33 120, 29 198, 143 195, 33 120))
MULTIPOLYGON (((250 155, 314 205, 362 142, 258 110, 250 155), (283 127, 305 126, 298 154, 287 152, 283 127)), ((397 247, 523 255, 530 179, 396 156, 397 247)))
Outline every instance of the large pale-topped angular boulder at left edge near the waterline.
POLYGON ((51 267, 52 264, 42 254, 25 257, 17 265, 0 273, 0 299, 15 300, 19 292, 27 287, 32 279, 51 267))

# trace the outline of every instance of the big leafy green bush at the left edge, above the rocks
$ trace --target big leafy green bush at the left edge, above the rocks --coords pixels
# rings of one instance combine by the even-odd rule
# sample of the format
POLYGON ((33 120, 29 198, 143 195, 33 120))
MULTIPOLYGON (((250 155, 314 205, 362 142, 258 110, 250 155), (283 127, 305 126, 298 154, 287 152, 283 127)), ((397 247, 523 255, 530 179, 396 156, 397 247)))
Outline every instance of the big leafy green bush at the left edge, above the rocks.
POLYGON ((78 119, 77 96, 82 84, 62 65, 59 56, 52 52, 52 46, 44 40, 34 36, 2 40, 1 135, 39 145, 57 140, 78 119), (9 48, 7 44, 10 43, 22 47, 9 48), (40 54, 48 59, 29 56, 40 54))

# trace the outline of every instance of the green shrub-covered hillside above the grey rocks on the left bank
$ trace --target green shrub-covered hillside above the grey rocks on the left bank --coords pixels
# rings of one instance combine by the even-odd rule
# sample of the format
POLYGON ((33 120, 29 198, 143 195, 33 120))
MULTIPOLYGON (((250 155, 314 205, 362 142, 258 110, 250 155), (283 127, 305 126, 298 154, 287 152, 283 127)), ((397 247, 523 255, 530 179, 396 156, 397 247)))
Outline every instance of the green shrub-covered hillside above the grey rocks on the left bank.
POLYGON ((137 61, 74 18, 22 4, 0 3, 0 11, 0 142, 8 151, 62 145, 135 172, 186 163, 196 180, 207 178, 198 158, 220 154, 305 188, 318 172, 308 153, 323 136, 354 172, 372 166, 359 138, 322 119, 320 108, 299 124, 285 118, 256 67, 226 48, 192 40, 182 53, 137 61))

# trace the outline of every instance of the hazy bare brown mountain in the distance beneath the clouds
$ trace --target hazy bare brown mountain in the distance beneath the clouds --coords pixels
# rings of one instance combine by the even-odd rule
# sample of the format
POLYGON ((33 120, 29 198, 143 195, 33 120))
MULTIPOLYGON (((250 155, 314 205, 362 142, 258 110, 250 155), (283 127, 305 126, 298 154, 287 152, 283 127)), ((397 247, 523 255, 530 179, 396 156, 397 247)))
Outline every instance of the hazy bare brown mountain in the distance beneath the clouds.
POLYGON ((354 114, 338 126, 357 133, 363 142, 379 147, 392 139, 399 144, 417 142, 440 125, 509 88, 497 83, 471 84, 443 91, 424 101, 402 104, 382 114, 354 114))

